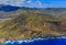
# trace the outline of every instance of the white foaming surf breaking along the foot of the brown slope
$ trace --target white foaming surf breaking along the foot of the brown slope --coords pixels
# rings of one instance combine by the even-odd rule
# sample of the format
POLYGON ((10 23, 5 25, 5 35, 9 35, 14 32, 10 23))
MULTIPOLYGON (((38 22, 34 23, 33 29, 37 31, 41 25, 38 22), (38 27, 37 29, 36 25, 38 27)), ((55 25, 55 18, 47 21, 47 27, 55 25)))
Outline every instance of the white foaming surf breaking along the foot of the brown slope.
MULTIPOLYGON (((62 36, 62 37, 50 37, 50 38, 66 38, 65 36, 62 36)), ((31 43, 31 42, 34 42, 34 41, 46 41, 46 40, 50 40, 50 38, 34 38, 34 40, 23 40, 23 41, 7 41, 4 44, 8 44, 8 43, 11 43, 11 44, 14 44, 14 43, 18 43, 18 44, 22 44, 22 43, 31 43)))

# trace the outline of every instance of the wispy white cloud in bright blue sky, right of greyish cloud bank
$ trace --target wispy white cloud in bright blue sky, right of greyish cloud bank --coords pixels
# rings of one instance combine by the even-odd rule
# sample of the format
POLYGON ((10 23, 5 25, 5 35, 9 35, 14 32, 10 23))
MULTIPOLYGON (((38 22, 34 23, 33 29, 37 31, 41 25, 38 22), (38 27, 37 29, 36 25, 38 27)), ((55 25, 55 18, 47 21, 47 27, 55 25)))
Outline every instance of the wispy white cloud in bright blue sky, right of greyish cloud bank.
POLYGON ((30 7, 30 8, 42 8, 43 3, 40 0, 28 0, 24 2, 25 7, 30 7))

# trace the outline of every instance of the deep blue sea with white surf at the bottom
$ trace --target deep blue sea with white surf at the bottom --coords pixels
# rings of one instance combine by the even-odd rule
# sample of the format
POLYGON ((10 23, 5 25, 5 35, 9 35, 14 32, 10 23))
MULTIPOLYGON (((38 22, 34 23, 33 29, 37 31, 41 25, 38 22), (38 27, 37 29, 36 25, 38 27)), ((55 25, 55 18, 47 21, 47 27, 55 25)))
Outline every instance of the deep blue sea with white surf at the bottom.
POLYGON ((8 41, 3 45, 66 45, 66 37, 63 38, 36 38, 31 41, 8 41))

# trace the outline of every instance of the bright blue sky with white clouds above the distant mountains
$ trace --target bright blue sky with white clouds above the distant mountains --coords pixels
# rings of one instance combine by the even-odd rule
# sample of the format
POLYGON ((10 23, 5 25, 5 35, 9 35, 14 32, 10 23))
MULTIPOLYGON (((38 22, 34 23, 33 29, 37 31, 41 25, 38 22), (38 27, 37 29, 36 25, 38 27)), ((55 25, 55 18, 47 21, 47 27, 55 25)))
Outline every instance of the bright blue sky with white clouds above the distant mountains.
POLYGON ((30 8, 66 8, 66 0, 0 0, 0 4, 30 8))

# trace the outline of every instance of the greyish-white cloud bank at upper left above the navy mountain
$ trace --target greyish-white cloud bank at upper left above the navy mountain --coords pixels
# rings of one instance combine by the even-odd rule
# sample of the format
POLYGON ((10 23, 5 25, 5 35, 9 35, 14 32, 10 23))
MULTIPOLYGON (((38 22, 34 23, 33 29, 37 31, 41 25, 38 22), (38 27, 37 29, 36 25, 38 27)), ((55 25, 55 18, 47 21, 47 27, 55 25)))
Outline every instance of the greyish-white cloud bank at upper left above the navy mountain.
POLYGON ((22 5, 25 0, 0 0, 0 4, 22 5))

